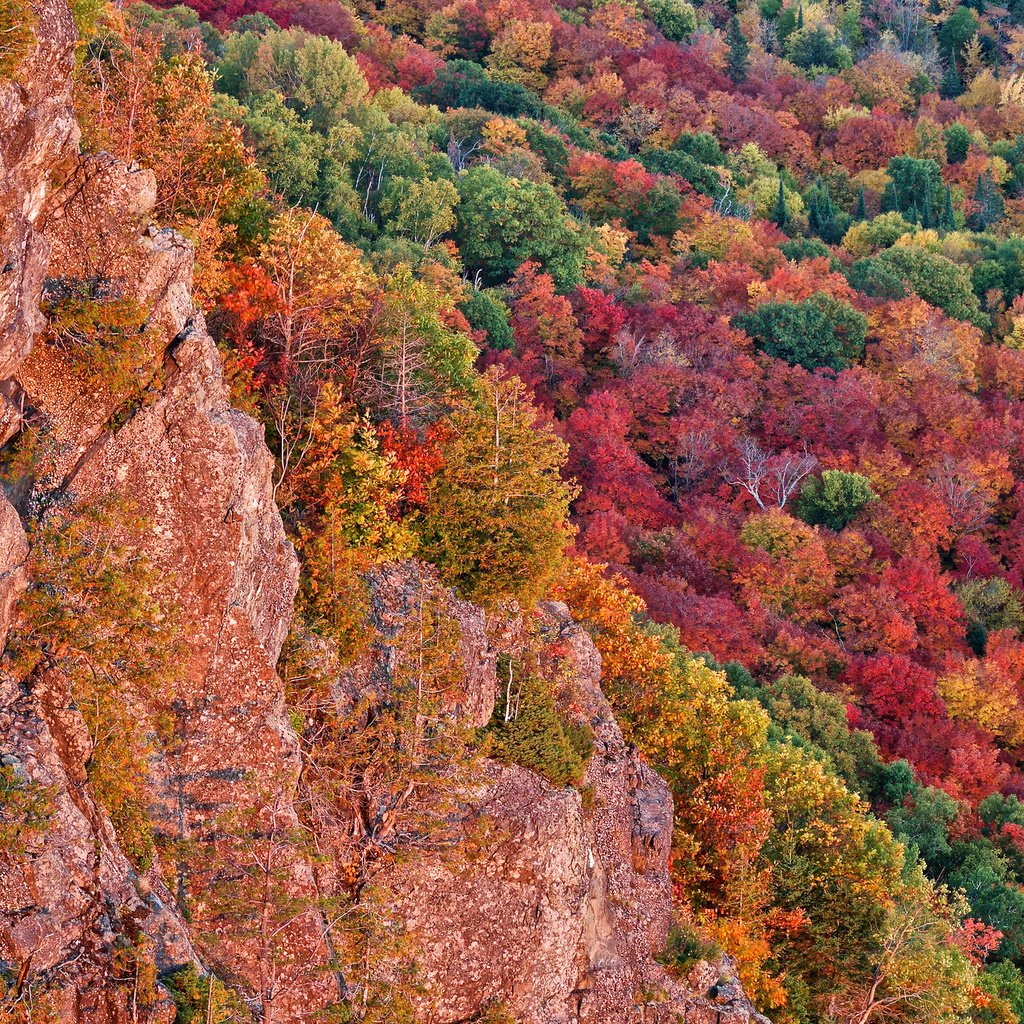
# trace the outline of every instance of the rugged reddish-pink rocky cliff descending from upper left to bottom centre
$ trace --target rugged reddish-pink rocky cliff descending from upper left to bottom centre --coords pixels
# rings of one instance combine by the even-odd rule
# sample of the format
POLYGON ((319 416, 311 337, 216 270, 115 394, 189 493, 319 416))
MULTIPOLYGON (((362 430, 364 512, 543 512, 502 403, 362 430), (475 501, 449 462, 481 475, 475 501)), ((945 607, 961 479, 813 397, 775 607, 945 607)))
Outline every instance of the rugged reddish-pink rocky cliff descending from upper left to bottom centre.
MULTIPOLYGON (((34 51, 17 81, 0 86, 0 428, 14 443, 27 424, 46 424, 49 494, 130 496, 145 525, 119 543, 154 566, 183 642, 172 688, 121 695, 151 739, 146 814, 160 842, 146 862, 123 852, 96 799, 89 732, 67 679, 45 663, 27 679, 0 679, 5 777, 50 800, 46 827, 16 856, 0 856, 7 1006, 13 1019, 170 1021, 174 1007, 155 979, 191 964, 216 971, 265 1021, 313 1020, 349 994, 324 897, 342 886, 339 851, 359 826, 354 814, 322 823, 299 806, 302 748, 276 673, 298 565, 273 501, 271 457, 262 428, 230 408, 189 298, 188 246, 148 221, 152 176, 78 152, 63 0, 41 0, 37 14, 34 51), (40 312, 45 289, 93 280, 100 250, 117 294, 147 310, 131 386, 121 389, 97 386, 47 344, 40 312), (274 926, 287 955, 272 977, 258 929, 232 927, 196 895, 229 818, 257 822, 261 841, 306 840, 273 865, 292 909, 274 926)), ((0 498, 4 636, 17 624, 39 487, 23 481, 0 498)), ((429 592, 458 631, 451 713, 485 724, 497 655, 514 649, 515 631, 496 634, 423 566, 380 572, 371 590, 376 639, 335 672, 331 699, 351 707, 389 685, 402 657, 394 637, 429 592)), ((381 869, 376 884, 417 966, 418 1016, 454 1024, 500 1001, 537 1024, 754 1019, 729 965, 700 965, 685 984, 656 964, 671 916, 668 788, 624 742, 587 635, 558 605, 540 623, 547 670, 571 690, 594 752, 580 787, 485 762, 445 822, 472 855, 457 842, 425 845, 381 869)))

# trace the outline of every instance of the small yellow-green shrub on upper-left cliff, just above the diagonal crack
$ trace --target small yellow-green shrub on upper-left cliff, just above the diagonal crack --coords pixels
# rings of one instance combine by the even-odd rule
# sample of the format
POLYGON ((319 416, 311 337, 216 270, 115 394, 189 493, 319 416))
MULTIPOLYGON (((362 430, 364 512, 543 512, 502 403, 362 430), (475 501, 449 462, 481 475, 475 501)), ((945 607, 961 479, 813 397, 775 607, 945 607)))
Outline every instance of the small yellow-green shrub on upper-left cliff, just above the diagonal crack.
POLYGON ((146 311, 131 298, 94 298, 90 293, 96 290, 73 285, 59 299, 44 303, 51 342, 87 389, 134 394, 148 362, 146 311))

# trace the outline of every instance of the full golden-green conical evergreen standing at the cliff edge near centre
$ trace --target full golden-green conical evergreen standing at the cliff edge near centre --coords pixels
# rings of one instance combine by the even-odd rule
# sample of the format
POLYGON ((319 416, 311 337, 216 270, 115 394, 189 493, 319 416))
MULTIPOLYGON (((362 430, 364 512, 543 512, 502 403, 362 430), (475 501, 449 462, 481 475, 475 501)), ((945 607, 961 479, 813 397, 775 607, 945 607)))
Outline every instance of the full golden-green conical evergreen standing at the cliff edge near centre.
POLYGON ((529 607, 555 579, 569 537, 565 446, 537 422, 522 384, 495 374, 452 426, 444 469, 429 484, 422 550, 471 600, 529 607))

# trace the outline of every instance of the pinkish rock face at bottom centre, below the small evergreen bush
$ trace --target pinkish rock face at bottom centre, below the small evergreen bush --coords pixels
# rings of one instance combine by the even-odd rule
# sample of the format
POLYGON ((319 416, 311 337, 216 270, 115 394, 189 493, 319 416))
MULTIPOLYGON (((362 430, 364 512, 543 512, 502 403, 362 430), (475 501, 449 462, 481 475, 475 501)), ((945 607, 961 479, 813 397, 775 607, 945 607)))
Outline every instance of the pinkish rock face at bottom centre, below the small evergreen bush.
POLYGON ((424 1019, 467 1020, 494 1000, 538 1024, 761 1019, 739 990, 715 999, 729 965, 706 965, 694 991, 655 962, 671 921, 672 797, 624 741, 593 641, 564 606, 543 612, 594 753, 579 790, 490 764, 467 818, 486 826, 476 855, 414 859, 388 880, 417 939, 424 1019))

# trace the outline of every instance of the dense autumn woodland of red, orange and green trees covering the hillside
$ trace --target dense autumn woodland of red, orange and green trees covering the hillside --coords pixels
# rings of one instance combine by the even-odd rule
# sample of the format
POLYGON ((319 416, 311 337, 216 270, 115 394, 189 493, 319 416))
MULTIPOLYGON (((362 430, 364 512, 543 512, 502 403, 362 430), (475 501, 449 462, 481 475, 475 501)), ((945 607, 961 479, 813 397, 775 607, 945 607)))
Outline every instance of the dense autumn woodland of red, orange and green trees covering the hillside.
MULTIPOLYGON (((77 14, 84 144, 156 172, 266 425, 307 756, 375 566, 562 600, 674 791, 670 966, 779 1024, 1024 1019, 1024 7, 77 14)), ((53 343, 130 375, 100 293, 53 343)), ((521 700, 486 749, 572 784, 521 700)))

